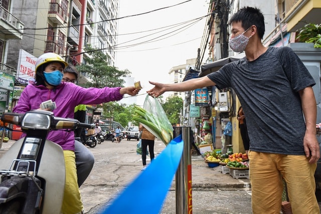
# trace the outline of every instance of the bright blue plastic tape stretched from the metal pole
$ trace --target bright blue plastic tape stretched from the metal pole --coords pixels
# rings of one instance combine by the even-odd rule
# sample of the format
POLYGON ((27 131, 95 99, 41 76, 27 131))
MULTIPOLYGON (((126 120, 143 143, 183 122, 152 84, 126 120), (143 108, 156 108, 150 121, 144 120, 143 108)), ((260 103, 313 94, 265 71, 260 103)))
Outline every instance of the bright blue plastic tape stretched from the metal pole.
POLYGON ((183 146, 182 135, 173 139, 102 214, 159 213, 179 166, 183 146))

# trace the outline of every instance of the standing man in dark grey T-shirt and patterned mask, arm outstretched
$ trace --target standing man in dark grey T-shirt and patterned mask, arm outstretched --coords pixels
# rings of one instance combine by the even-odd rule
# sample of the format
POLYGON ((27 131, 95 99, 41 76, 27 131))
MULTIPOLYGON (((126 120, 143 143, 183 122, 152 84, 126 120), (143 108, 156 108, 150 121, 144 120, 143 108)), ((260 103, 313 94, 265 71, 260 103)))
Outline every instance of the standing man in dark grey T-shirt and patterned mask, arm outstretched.
POLYGON ((253 213, 280 213, 282 177, 293 213, 319 213, 314 193, 320 148, 313 77, 291 48, 262 44, 265 24, 259 9, 244 7, 229 24, 229 46, 236 53, 244 51, 244 58, 181 83, 149 81, 154 87, 147 93, 158 97, 167 91, 231 87, 246 113, 253 213))

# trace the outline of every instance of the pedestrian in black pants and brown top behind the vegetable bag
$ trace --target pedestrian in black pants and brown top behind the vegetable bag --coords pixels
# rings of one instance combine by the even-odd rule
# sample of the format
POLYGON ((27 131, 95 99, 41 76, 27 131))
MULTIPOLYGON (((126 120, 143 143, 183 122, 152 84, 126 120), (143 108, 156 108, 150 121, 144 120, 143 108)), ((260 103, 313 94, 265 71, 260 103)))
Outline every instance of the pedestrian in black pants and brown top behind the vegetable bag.
POLYGON ((155 144, 155 136, 150 133, 142 124, 139 124, 139 131, 141 131, 141 160, 142 160, 142 169, 146 168, 146 155, 147 155, 147 146, 149 150, 150 161, 152 161, 155 157, 154 154, 154 144, 155 144))

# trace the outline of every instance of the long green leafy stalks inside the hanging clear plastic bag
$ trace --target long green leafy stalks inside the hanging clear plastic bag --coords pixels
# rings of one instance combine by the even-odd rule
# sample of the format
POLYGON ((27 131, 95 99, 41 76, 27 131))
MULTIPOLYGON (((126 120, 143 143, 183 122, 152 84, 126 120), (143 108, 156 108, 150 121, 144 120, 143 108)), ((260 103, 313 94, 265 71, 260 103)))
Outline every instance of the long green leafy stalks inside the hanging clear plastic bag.
POLYGON ((166 145, 173 140, 173 130, 170 130, 167 124, 163 124, 162 120, 159 120, 154 114, 139 106, 135 106, 134 113, 132 119, 148 127, 148 131, 159 140, 162 140, 166 145))

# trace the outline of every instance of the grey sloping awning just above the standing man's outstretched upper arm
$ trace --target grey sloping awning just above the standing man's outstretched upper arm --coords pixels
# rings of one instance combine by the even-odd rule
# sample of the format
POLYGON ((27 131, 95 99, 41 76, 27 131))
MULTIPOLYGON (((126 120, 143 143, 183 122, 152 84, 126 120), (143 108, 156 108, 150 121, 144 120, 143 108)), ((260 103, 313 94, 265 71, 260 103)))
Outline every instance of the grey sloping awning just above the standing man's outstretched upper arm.
POLYGON ((240 59, 242 59, 243 57, 245 57, 245 53, 241 53, 232 57, 227 57, 221 60, 217 60, 215 62, 212 63, 208 63, 205 65, 201 66, 201 72, 199 74, 199 77, 204 77, 210 73, 216 72, 218 71, 220 68, 222 68, 224 65, 234 62, 234 61, 238 61, 240 59))

